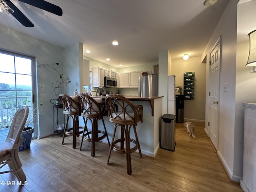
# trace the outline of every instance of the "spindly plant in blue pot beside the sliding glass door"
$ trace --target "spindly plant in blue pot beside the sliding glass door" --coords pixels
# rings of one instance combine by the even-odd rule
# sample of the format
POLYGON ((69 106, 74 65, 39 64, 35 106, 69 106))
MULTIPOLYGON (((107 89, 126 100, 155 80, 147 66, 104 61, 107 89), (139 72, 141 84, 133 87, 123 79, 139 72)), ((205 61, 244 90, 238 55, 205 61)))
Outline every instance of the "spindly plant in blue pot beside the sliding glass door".
MULTIPOLYGON (((26 102, 30 102, 30 101, 25 100, 24 103, 26 103, 26 102)), ((43 104, 40 103, 39 105, 42 106, 43 104)), ((35 122, 37 116, 39 114, 42 114, 42 112, 37 113, 37 110, 38 110, 38 107, 34 108, 33 110, 29 110, 29 112, 28 112, 28 118, 27 118, 24 128, 21 132, 22 141, 20 143, 19 151, 30 148, 32 134, 34 132, 34 124, 35 124, 34 122, 35 122)), ((12 109, 10 112, 7 112, 7 113, 1 111, 1 114, 3 116, 6 116, 7 118, 9 118, 9 120, 10 120, 10 121, 8 121, 9 122, 8 124, 2 124, 2 126, 6 126, 6 128, 10 127, 12 120, 14 118, 15 112, 16 112, 16 109, 12 109)))

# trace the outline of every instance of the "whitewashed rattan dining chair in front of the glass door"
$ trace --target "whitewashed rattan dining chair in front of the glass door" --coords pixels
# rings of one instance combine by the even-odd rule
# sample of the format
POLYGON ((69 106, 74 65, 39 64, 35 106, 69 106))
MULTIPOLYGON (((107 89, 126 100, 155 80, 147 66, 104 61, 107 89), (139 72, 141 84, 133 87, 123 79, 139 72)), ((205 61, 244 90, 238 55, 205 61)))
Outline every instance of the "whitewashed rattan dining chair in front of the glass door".
POLYGON ((20 136, 24 124, 28 118, 28 106, 21 106, 12 120, 6 141, 0 144, 0 169, 6 164, 10 170, 2 171, 0 174, 13 172, 17 179, 24 184, 26 175, 22 170, 22 164, 18 156, 18 149, 22 137, 20 136))

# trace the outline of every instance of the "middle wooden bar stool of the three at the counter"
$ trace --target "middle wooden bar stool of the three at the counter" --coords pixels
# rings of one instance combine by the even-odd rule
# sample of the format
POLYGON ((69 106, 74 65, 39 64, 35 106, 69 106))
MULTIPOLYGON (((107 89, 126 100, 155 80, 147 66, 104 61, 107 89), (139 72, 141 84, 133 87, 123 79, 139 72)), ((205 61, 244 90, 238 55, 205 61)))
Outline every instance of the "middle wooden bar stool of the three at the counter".
POLYGON ((108 114, 107 109, 105 107, 105 103, 102 102, 102 98, 92 98, 88 94, 79 94, 78 102, 81 106, 81 116, 86 118, 84 123, 83 130, 83 138, 81 141, 80 150, 82 149, 83 140, 89 141, 92 143, 91 155, 95 156, 95 142, 98 142, 105 137, 108 140, 108 144, 110 146, 110 142, 108 139, 108 132, 106 130, 106 126, 103 120, 103 116, 108 114), (104 130, 98 130, 98 120, 101 119, 104 130), (91 131, 88 131, 87 122, 90 121, 92 124, 91 131), (91 135, 91 136, 90 136, 91 135))

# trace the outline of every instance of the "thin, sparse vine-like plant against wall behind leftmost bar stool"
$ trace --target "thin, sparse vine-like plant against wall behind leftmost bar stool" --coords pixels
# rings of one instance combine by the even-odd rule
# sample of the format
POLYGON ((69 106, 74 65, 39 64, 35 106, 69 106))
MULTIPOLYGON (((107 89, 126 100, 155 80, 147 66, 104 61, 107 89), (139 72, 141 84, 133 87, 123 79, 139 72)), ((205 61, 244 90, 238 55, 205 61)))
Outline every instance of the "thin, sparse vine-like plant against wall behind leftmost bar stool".
MULTIPOLYGON (((55 98, 51 99, 50 102, 54 105, 62 105, 61 102, 59 101, 59 94, 62 93, 63 88, 66 87, 71 82, 70 78, 62 74, 59 70, 57 70, 56 66, 60 65, 59 63, 40 64, 40 62, 38 61, 37 63, 38 63, 38 67, 52 68, 54 71, 57 72, 58 78, 54 78, 53 82, 51 83, 51 90, 54 92, 55 98), (54 102, 52 102, 52 100, 54 100, 54 102)), ((69 69, 68 71, 70 72, 69 69)), ((70 76, 71 76, 71 72, 70 72, 70 76)))

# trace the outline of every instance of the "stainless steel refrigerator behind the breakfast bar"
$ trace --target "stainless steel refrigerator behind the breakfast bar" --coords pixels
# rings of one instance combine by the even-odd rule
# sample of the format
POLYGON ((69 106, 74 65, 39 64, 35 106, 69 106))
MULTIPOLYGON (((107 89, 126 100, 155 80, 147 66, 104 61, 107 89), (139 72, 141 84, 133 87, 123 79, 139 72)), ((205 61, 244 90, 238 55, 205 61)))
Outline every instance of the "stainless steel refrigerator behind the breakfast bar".
POLYGON ((158 96, 158 75, 139 76, 139 97, 158 96))

